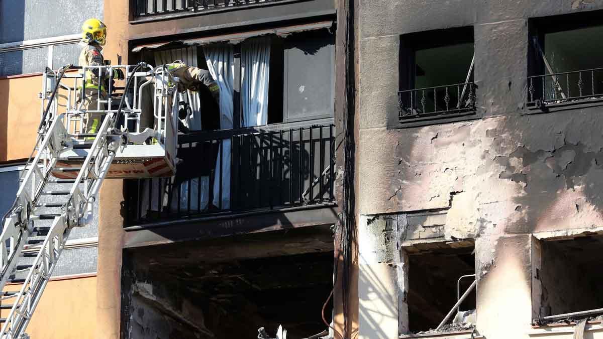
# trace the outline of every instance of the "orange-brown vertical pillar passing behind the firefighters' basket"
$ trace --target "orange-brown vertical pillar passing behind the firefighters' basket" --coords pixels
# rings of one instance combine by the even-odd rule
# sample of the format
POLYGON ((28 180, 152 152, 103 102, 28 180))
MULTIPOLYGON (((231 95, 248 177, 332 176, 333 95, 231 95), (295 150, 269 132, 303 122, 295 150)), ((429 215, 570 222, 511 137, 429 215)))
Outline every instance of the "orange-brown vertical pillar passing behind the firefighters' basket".
MULTIPOLYGON (((103 49, 112 65, 128 62, 128 0, 104 1, 103 22, 107 45, 103 49)), ((98 268, 96 280, 96 338, 118 339, 121 323, 121 265, 124 220, 123 180, 107 179, 99 193, 98 268)))

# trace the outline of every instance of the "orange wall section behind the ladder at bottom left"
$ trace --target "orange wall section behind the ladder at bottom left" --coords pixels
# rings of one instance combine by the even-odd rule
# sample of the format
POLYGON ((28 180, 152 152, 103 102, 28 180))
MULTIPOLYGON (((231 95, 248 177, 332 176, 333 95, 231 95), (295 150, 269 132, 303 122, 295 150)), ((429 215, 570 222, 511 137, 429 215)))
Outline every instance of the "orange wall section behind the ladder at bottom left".
MULTIPOLYGON (((21 285, 7 285, 17 291, 21 285)), ((11 299, 5 303, 12 303, 11 299)), ((10 310, 2 310, 6 317, 10 310)), ((96 276, 51 280, 27 326, 31 338, 93 338, 96 331, 96 276)))

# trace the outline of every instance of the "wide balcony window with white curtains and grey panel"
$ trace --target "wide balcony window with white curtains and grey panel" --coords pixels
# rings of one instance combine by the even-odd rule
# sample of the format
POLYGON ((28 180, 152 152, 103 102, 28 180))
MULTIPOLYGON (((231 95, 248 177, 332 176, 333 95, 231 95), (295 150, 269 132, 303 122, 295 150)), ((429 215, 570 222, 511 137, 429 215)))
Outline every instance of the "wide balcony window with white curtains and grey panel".
MULTIPOLYGON (((191 130, 215 130, 256 127, 267 124, 315 121, 330 118, 335 110, 335 36, 326 28, 304 31, 286 36, 260 36, 237 44, 213 43, 202 46, 145 52, 139 55, 151 65, 162 65, 175 60, 209 69, 210 65, 232 63, 222 69, 233 69, 230 77, 233 88, 232 125, 223 124, 219 116, 224 112, 207 112, 203 107, 192 107, 203 121, 186 121, 191 130), (216 59, 221 55, 229 55, 216 59), (217 60, 217 61, 216 61, 217 60), (239 82, 240 81, 240 82, 239 82), (239 83, 239 86, 237 84, 239 83)), ((225 64, 226 65, 226 64, 225 64)), ((221 72, 219 69, 210 72, 221 72)), ((228 87, 227 86, 227 87, 228 87)), ((227 87, 221 87, 221 92, 227 87)), ((226 92, 226 91, 224 91, 226 92)), ((201 93, 202 95, 203 93, 201 93)), ((222 93, 221 93, 222 95, 222 93)), ((182 98, 182 101, 188 101, 182 98)), ((204 101, 201 98, 201 106, 204 101)), ((221 105, 225 104, 221 102, 221 105)), ((194 106, 191 104, 191 106, 194 106)), ((226 113, 229 114, 229 113, 226 113)))

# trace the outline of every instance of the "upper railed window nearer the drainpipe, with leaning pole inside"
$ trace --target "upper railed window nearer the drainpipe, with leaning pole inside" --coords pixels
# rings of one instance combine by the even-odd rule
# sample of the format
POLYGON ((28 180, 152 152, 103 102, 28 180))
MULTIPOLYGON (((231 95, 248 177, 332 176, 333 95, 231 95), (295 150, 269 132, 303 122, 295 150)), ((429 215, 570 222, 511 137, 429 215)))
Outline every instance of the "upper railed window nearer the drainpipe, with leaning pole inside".
POLYGON ((475 114, 473 27, 400 37, 399 71, 399 112, 390 119, 391 126, 454 121, 475 114))

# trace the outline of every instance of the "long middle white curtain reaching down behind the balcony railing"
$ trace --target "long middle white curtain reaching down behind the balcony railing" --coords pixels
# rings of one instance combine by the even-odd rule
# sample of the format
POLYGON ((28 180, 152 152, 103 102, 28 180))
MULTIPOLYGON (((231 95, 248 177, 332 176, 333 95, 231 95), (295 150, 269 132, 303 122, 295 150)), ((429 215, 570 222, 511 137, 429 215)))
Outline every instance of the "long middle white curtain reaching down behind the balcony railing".
MULTIPOLYGON (((232 45, 219 44, 203 47, 207 69, 220 87, 220 128, 233 128, 233 84, 235 63, 232 45)), ((223 209, 230 208, 230 139, 221 142, 216 160, 213 182, 213 204, 223 209), (220 157, 222 163, 220 163, 220 157), (220 203, 220 173, 222 173, 222 201, 220 203)))

